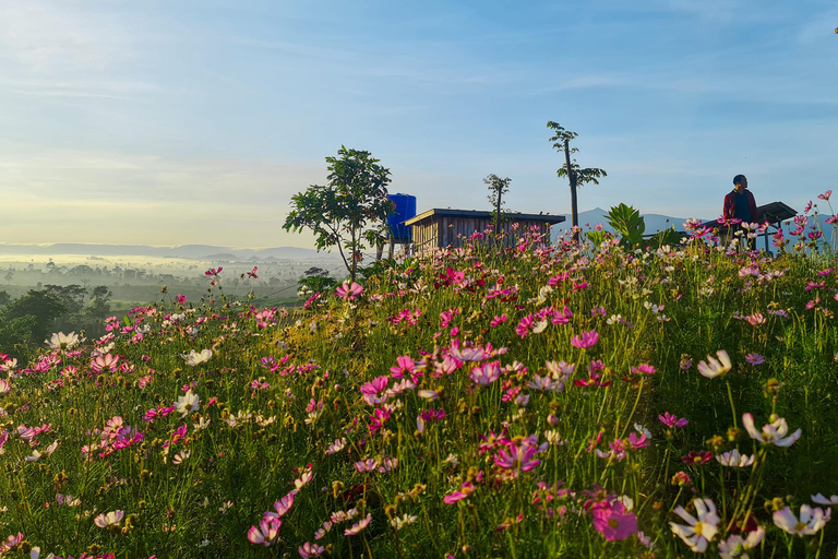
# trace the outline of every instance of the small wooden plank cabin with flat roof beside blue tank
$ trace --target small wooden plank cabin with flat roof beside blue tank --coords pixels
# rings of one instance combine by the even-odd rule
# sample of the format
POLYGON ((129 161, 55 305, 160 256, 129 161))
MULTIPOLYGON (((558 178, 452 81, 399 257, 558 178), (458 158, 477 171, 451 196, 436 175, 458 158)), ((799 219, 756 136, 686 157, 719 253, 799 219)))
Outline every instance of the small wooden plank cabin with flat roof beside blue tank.
MULTIPOLYGON (((510 239, 522 236, 530 227, 536 226, 537 231, 546 235, 550 242, 550 226, 564 222, 563 215, 522 214, 506 213, 502 228, 508 234, 510 239), (513 230, 512 225, 518 224, 518 229, 513 230)), ((475 231, 484 233, 492 229, 492 213, 480 210, 441 210, 434 207, 416 217, 405 221, 405 225, 412 227, 414 250, 422 251, 429 248, 459 247, 464 238, 468 239, 475 231)))

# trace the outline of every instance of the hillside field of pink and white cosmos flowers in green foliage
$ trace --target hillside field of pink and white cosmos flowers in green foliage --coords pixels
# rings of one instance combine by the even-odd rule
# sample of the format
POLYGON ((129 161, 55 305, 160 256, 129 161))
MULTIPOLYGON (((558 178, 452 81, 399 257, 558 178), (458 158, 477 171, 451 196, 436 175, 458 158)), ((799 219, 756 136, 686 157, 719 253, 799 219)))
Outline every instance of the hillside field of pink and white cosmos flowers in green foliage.
POLYGON ((474 237, 0 355, 0 556, 836 556, 838 263, 474 237))

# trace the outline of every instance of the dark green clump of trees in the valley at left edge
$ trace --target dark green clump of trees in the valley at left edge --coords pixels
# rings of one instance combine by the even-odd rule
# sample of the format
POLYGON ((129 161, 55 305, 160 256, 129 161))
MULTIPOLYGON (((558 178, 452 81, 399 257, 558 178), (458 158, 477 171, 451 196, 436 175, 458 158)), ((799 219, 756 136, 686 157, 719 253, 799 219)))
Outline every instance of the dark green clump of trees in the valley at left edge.
POLYGON ((53 332, 104 334, 112 296, 105 285, 45 285, 16 299, 0 292, 0 353, 27 358, 53 332))

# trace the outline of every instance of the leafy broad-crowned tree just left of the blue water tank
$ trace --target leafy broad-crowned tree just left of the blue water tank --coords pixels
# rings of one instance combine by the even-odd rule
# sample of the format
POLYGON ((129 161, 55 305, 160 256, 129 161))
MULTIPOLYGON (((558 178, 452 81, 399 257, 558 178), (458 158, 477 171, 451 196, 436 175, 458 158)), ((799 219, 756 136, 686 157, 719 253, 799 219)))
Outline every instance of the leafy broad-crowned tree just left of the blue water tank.
POLYGON ((358 272, 361 250, 383 242, 387 214, 390 169, 378 165, 370 152, 340 146, 337 157, 326 157, 328 183, 312 185, 291 198, 285 230, 311 229, 318 250, 337 247, 351 281, 358 272))

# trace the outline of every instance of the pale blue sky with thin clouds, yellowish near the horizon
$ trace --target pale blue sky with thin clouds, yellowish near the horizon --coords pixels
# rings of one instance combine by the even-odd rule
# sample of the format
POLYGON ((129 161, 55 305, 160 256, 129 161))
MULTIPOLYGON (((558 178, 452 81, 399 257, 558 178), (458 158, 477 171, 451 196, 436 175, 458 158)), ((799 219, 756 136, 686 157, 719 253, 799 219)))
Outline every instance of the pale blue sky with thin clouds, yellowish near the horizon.
MULTIPOLYGON (((836 0, 0 0, 0 243, 313 247, 325 157, 391 193, 570 213, 547 121, 608 173, 579 210, 714 219, 838 191, 836 0)), ((828 211, 827 207, 822 210, 828 211)), ((837 209, 838 210, 838 209, 837 209)))

